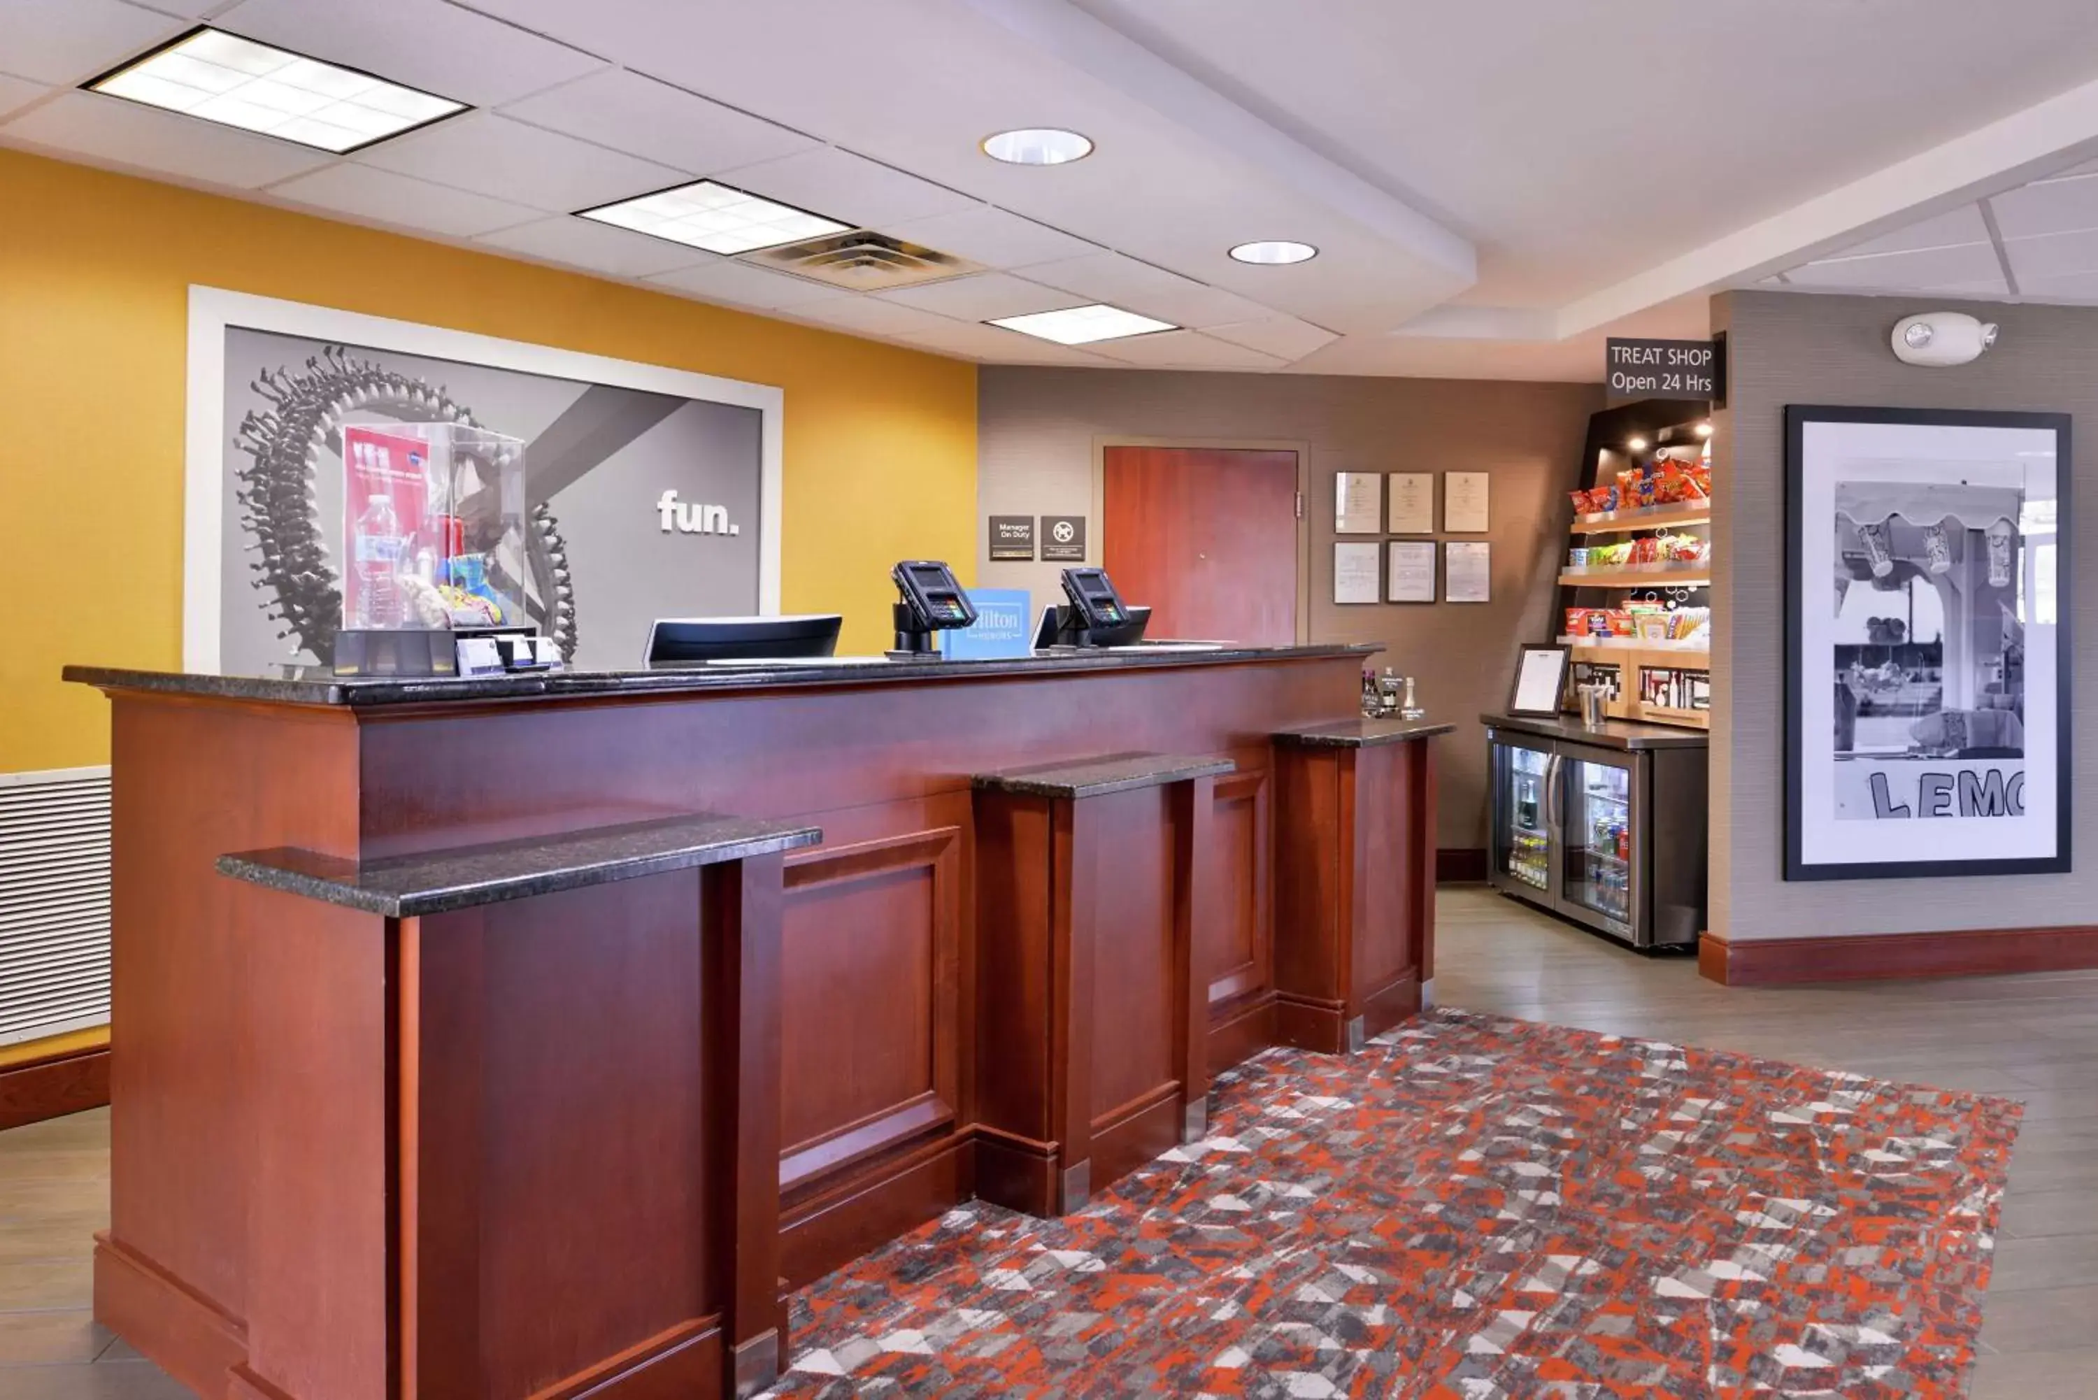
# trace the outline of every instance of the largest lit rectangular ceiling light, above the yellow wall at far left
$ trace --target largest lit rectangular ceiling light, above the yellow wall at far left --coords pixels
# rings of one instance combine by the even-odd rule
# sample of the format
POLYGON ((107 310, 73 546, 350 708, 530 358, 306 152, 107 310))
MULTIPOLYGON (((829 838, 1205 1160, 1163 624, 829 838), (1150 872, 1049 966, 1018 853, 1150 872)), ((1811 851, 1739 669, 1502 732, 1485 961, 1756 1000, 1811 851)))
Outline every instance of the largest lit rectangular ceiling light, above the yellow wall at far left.
POLYGON ((84 86, 336 155, 466 111, 449 97, 210 27, 84 86))

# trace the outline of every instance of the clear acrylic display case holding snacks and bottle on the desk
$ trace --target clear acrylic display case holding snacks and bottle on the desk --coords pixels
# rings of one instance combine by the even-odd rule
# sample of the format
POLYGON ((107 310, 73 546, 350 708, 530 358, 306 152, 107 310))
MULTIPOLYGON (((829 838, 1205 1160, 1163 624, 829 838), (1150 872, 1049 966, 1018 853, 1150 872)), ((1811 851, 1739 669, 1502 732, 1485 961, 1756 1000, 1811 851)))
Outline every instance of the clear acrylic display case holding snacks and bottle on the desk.
POLYGON ((338 674, 451 674, 453 636, 518 628, 524 443, 468 424, 342 430, 338 674))

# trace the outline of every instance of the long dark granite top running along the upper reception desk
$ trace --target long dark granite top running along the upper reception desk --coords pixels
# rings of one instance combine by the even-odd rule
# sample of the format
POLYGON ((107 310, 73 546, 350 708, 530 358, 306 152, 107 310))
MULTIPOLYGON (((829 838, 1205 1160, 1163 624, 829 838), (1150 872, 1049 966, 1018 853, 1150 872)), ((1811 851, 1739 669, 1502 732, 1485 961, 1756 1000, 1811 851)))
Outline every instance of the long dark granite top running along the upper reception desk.
POLYGON ((147 672, 111 665, 67 665, 65 680, 105 691, 162 691, 220 699, 277 701, 287 705, 426 705, 432 701, 676 695, 686 691, 776 691, 827 684, 923 684, 967 682, 999 676, 1059 676, 1148 667, 1202 667, 1246 661, 1292 661, 1318 657, 1368 657, 1374 644, 1357 646, 1223 646, 1217 651, 1173 651, 1160 646, 1101 649, 1003 661, 848 661, 843 657, 808 665, 707 665, 690 670, 636 672, 533 672, 476 680, 445 678, 340 678, 340 676, 199 676, 147 672))

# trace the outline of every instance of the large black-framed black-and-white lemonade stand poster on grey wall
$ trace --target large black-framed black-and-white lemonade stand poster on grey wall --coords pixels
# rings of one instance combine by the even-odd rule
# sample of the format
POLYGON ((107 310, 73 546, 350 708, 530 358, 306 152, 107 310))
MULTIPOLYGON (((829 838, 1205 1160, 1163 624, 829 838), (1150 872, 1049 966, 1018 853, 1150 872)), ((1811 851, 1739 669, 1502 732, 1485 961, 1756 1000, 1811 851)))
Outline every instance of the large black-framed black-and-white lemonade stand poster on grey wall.
POLYGON ((2069 416, 1785 407, 1785 879, 2069 869, 2069 416))

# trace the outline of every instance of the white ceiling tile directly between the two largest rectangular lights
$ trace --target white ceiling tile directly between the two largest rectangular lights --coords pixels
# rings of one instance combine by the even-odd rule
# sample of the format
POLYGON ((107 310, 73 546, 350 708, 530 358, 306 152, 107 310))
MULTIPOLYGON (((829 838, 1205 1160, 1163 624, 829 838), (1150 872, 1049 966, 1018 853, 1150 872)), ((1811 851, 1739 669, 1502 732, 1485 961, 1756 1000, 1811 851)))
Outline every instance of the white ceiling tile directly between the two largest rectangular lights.
POLYGON ((631 199, 688 178, 682 170, 512 122, 493 111, 470 111, 438 122, 359 151, 357 160, 552 214, 631 199))

